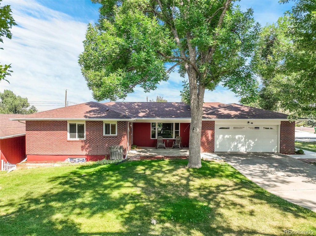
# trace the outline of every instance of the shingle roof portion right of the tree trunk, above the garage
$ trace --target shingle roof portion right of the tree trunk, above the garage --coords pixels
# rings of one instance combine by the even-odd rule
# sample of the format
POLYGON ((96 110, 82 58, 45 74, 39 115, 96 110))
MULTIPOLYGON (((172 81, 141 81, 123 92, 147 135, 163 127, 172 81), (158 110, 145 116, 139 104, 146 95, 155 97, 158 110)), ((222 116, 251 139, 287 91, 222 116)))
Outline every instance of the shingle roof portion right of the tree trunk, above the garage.
POLYGON ((221 106, 204 113, 204 119, 287 119, 286 114, 271 112, 236 103, 221 106))

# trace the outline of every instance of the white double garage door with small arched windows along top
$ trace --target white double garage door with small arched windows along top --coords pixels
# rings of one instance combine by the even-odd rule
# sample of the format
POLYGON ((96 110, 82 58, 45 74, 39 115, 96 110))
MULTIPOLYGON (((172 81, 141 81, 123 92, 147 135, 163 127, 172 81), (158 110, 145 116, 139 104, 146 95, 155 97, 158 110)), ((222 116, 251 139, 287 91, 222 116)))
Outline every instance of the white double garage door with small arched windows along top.
POLYGON ((215 152, 277 152, 277 125, 216 125, 215 152))

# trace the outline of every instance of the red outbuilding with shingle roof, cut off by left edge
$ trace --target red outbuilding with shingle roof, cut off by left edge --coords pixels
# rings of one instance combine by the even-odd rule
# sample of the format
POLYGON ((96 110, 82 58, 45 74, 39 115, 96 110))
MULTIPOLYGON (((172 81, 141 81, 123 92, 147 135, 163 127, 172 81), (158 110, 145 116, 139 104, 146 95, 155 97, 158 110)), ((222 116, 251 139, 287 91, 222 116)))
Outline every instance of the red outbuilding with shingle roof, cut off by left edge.
POLYGON ((12 121, 20 114, 0 114, 0 160, 10 164, 25 159, 25 123, 12 121))

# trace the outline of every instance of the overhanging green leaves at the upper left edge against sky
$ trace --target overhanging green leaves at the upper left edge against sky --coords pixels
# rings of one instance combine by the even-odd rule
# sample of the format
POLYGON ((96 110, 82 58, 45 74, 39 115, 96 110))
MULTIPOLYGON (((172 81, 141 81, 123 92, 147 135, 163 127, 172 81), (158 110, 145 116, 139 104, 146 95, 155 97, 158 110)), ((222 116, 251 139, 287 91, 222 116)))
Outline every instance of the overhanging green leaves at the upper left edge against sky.
MULTIPOLYGON (((0 0, 0 42, 3 43, 3 36, 9 39, 12 38, 11 28, 12 26, 15 26, 17 24, 15 23, 12 17, 10 5, 5 5, 1 7, 1 2, 2 0, 0 0)), ((3 48, 0 47, 0 49, 3 49, 3 48)), ((11 64, 10 65, 0 64, 0 81, 1 80, 8 81, 7 79, 5 79, 5 77, 7 75, 11 75, 11 72, 13 72, 9 70, 10 68, 11 68, 11 64)))

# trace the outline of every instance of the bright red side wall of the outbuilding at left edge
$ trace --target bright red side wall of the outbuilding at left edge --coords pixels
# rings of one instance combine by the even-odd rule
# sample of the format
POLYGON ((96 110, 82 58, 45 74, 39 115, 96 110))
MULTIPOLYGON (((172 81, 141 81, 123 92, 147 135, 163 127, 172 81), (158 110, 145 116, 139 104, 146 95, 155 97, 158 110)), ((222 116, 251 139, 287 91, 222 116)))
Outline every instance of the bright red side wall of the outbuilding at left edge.
POLYGON ((1 160, 11 164, 23 161, 25 159, 25 135, 0 139, 0 155, 1 160))

